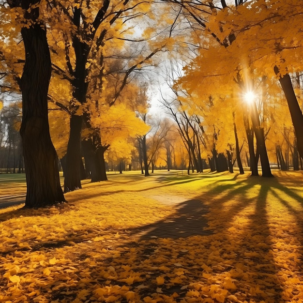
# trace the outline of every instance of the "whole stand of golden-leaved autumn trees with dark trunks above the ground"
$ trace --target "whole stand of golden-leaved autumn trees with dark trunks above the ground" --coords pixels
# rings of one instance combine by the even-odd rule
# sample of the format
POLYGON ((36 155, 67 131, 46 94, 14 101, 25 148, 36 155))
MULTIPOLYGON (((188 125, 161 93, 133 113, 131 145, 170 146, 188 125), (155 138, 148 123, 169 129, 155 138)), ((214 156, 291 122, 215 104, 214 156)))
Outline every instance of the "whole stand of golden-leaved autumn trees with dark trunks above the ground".
POLYGON ((303 116, 291 76, 296 76, 301 92, 297 74, 302 70, 298 62, 301 4, 279 0, 236 0, 230 6, 225 0, 2 1, 1 87, 22 92, 26 206, 64 201, 52 140, 62 158, 65 192, 81 188, 81 150, 92 182, 102 181, 106 180, 105 152, 110 148, 118 161, 131 154, 130 138, 138 137, 139 157, 148 175, 160 146, 170 166, 174 147, 166 137, 177 132, 188 163, 198 172, 205 160, 212 170, 225 170, 228 163, 232 171, 235 159, 242 172, 245 152, 252 174, 258 175, 260 159, 262 175, 270 177, 266 149, 270 140, 283 169, 289 152, 298 167, 297 151, 303 155, 303 116), (165 73, 171 93, 161 96, 175 130, 167 131, 171 122, 158 123, 147 135, 148 98, 136 75, 145 66, 163 67, 164 51, 169 51, 170 62, 176 60, 166 65, 172 66, 165 73), (292 125, 287 119, 279 120, 285 118, 285 106, 277 81, 287 98, 292 125), (243 96, 249 91, 258 97, 244 104, 243 96), (49 115, 48 101, 52 103, 49 115), (66 136, 68 144, 63 143, 66 136), (147 139, 152 142, 150 156, 147 139))

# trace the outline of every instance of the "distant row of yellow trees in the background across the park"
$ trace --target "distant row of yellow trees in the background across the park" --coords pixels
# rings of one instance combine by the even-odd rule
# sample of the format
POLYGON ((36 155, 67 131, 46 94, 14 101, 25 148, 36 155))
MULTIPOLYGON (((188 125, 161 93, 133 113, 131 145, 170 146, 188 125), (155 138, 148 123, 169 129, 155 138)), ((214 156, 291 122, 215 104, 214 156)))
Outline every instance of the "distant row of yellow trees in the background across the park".
MULTIPOLYGON (((143 100, 142 96, 141 98, 143 100)), ((149 96, 145 95, 144 98, 148 100, 149 96)), ((208 121, 207 116, 205 116, 202 126, 202 117, 197 114, 190 116, 186 111, 182 111, 180 101, 177 99, 168 101, 163 98, 162 104, 167 109, 168 115, 162 120, 156 119, 150 113, 137 113, 142 120, 150 125, 150 131, 143 136, 136 136, 129 139, 128 142, 119 142, 118 145, 108 148, 105 153, 106 169, 117 171, 141 169, 142 173, 149 175, 149 169, 153 172, 154 167, 166 167, 168 170, 170 168, 187 169, 190 173, 190 169, 202 172, 203 169, 209 167, 212 171, 228 169, 233 172, 235 163, 242 172, 242 163, 245 166, 250 166, 248 144, 242 121, 233 121, 229 124, 227 121, 220 122, 227 117, 226 107, 221 111, 219 108, 214 109, 214 112, 208 111, 210 120, 208 121), (207 122, 209 123, 207 124, 207 122), (242 127, 235 130, 236 123, 242 127), (234 131, 232 131, 233 128, 234 131), (236 138, 241 148, 242 157, 240 156, 240 160, 236 155, 236 138)), ((283 108, 282 105, 281 108, 283 108)), ((287 108, 284 106, 285 110, 287 108)), ((50 110, 50 121, 60 119, 58 113, 61 111, 50 110)), ((274 131, 268 132, 266 138, 269 158, 271 163, 277 163, 278 167, 283 170, 288 170, 289 166, 299 169, 296 140, 290 119, 287 119, 283 112, 275 112, 275 116, 278 114, 280 114, 280 119, 284 119, 283 129, 279 130, 279 124, 266 125, 266 129, 274 129, 274 131)), ((0 167, 2 172, 23 172, 21 140, 17 132, 20 120, 21 112, 16 103, 2 109, 0 115, 0 167)), ((54 131, 51 127, 52 130, 54 131)), ((64 135, 64 128, 58 131, 57 126, 53 138, 61 164, 65 169, 68 134, 64 135), (60 136, 55 136, 56 134, 60 134, 60 136)), ((95 167, 91 165, 89 144, 91 144, 89 140, 83 139, 81 144, 82 161, 80 161, 81 179, 93 178, 95 167)))

